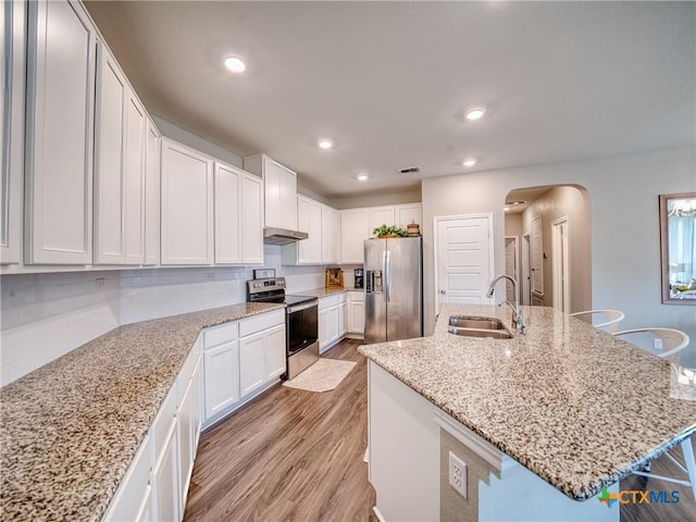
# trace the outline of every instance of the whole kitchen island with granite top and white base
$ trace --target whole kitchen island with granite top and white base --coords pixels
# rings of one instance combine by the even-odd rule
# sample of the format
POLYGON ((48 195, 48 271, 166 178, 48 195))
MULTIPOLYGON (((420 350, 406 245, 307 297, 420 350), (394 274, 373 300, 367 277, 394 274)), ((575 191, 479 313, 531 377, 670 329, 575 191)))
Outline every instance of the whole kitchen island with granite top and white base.
MULTIPOLYGON (((450 436, 467 458, 488 457, 469 465, 484 483, 470 484, 478 506, 469 509, 481 520, 496 520, 486 501, 499 502, 496 490, 505 492, 511 470, 539 477, 538 487, 508 481, 526 484, 539 513, 583 520, 582 511, 596 506, 618 520, 616 506, 582 500, 616 492, 620 478, 696 432, 696 390, 676 383, 669 362, 550 308, 522 307, 522 316, 526 335, 509 326, 506 308, 449 304, 431 337, 360 348, 370 360, 370 475, 385 520, 437 519, 457 504, 443 455, 455 444, 450 436), (455 336, 447 332, 450 315, 499 318, 512 338, 455 336), (410 456, 394 444, 402 421, 413 422, 405 427, 419 446, 410 456), (409 459, 422 459, 430 478, 427 471, 412 477, 400 469, 409 459), (417 513, 411 499, 430 511, 417 513), (548 502, 562 512, 545 511, 548 502)), ((509 500, 514 496, 508 490, 509 500)), ((535 520, 534 508, 515 506, 517 520, 535 520)))

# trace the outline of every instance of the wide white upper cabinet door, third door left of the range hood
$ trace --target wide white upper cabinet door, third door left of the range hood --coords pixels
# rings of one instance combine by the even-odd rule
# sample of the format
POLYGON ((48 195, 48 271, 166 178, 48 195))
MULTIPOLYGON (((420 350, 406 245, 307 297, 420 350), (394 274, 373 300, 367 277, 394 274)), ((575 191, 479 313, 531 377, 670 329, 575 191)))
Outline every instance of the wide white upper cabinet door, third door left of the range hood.
POLYGON ((162 138, 162 264, 213 261, 213 161, 162 138))

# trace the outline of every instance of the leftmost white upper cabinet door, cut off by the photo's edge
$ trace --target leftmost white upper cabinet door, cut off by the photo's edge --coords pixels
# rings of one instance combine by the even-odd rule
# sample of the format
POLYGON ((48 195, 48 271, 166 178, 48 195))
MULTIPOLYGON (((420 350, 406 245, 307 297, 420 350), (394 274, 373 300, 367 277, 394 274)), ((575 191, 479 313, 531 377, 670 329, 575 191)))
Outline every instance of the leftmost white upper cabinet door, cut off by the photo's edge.
POLYGON ((22 249, 26 2, 3 2, 0 26, 0 261, 8 264, 20 261, 22 249))

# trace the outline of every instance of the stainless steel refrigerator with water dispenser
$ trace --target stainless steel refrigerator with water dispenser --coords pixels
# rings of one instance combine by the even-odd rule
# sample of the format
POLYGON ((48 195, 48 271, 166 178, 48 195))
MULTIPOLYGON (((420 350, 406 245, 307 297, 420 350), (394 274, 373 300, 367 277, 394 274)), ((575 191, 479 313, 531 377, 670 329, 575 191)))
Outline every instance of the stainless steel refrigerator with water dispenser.
POLYGON ((422 337, 422 239, 365 239, 364 263, 365 343, 422 337))

